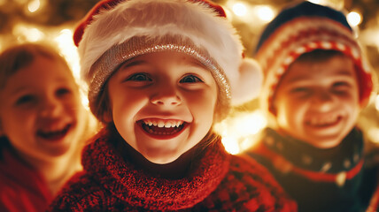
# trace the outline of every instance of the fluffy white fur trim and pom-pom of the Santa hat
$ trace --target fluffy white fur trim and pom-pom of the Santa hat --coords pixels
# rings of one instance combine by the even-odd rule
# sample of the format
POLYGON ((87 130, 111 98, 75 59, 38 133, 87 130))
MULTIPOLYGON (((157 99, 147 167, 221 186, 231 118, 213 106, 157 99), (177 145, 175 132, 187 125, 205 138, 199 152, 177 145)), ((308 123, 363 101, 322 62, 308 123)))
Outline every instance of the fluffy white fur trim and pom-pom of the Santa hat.
POLYGON ((209 5, 187 0, 129 0, 100 11, 85 27, 79 42, 81 76, 92 83, 91 66, 116 45, 133 37, 156 39, 166 35, 188 38, 207 51, 227 76, 233 103, 257 96, 260 68, 256 63, 245 64, 236 29, 209 5))

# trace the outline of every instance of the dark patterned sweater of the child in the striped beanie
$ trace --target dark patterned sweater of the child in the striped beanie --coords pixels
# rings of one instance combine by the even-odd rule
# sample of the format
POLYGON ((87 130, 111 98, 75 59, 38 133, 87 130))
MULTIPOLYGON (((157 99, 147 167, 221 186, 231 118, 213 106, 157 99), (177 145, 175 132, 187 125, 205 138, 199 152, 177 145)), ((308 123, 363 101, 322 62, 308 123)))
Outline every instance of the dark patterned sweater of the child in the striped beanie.
POLYGON ((365 173, 357 129, 336 148, 320 149, 267 128, 247 155, 274 174, 301 212, 364 211, 375 188, 375 176, 365 173))

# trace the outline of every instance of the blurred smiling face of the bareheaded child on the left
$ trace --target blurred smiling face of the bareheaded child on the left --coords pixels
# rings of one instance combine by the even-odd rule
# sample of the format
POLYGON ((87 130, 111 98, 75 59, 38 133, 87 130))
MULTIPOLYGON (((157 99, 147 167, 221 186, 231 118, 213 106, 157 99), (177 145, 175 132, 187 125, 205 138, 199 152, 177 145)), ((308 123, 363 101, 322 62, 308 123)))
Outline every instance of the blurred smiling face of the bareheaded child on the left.
POLYGON ((83 109, 71 74, 64 64, 37 56, 0 91, 0 133, 20 155, 46 161, 76 148, 83 109))

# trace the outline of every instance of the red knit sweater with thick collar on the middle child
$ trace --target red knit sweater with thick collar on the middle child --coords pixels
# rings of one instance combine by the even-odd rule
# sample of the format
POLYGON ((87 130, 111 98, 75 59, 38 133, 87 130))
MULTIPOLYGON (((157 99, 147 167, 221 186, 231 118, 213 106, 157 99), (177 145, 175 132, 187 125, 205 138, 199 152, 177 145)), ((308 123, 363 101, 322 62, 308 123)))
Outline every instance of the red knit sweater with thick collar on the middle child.
POLYGON ((84 149, 84 171, 50 211, 296 211, 265 168, 229 155, 220 140, 196 161, 186 178, 154 178, 124 160, 108 133, 100 133, 84 149))

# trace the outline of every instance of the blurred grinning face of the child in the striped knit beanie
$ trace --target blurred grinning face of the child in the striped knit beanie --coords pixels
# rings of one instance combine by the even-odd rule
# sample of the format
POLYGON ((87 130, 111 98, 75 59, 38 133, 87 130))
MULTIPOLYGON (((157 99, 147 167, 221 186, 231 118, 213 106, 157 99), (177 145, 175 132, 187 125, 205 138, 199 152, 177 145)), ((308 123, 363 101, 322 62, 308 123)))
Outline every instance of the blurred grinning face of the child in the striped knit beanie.
POLYGON ((336 147, 360 113, 359 86, 352 59, 295 62, 276 88, 274 107, 282 133, 316 148, 336 147))

